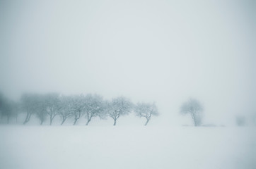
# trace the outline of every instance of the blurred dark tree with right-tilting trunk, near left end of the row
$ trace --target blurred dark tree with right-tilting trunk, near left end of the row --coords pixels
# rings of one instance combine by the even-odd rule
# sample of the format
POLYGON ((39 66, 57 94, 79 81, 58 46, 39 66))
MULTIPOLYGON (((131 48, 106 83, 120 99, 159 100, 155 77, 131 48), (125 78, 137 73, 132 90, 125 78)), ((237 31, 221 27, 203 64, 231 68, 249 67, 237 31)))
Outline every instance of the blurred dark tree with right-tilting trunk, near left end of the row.
POLYGON ((30 93, 25 93, 21 96, 21 107, 22 107, 22 110, 25 111, 25 113, 27 114, 23 125, 28 123, 31 115, 33 115, 37 110, 37 106, 35 105, 35 101, 34 101, 35 97, 36 97, 36 94, 30 94, 30 93))

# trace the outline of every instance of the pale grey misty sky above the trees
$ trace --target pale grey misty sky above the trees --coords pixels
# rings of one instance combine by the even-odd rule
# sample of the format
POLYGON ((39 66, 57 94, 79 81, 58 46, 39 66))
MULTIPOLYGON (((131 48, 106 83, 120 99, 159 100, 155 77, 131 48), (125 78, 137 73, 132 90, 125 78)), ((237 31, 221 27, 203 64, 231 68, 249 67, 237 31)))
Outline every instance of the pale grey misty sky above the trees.
POLYGON ((256 113, 255 1, 0 1, 0 91, 156 101, 175 123, 256 113))

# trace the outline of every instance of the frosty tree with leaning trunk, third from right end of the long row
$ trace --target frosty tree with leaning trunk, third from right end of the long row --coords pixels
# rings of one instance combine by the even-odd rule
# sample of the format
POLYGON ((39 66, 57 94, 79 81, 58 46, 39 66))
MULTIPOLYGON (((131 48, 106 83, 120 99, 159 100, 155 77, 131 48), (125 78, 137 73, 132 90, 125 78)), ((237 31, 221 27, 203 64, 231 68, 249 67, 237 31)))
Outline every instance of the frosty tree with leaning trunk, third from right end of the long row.
POLYGON ((105 101, 98 94, 87 94, 84 102, 84 111, 86 113, 86 125, 91 122, 92 118, 105 116, 105 101))

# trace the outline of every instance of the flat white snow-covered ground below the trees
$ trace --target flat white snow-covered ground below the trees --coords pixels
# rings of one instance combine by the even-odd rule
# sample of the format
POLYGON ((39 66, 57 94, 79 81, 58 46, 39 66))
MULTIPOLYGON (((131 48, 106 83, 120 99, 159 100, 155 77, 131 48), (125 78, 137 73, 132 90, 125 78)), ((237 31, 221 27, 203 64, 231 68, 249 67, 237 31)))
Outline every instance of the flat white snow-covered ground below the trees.
POLYGON ((0 126, 0 168, 256 168, 255 129, 0 126))

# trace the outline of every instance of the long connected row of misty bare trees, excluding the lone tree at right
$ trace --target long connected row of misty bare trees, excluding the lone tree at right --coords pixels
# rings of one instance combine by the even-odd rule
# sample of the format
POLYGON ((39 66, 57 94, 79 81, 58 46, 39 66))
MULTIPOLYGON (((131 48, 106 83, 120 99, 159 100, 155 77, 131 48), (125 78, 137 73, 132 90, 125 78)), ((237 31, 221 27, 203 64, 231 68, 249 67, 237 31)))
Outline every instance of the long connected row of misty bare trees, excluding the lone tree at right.
POLYGON ((6 117, 7 122, 10 118, 18 117, 18 113, 25 113, 25 125, 30 121, 31 116, 36 115, 40 120, 40 125, 50 118, 50 125, 57 115, 62 118, 61 125, 66 119, 73 118, 74 125, 77 121, 85 117, 86 125, 95 117, 107 119, 110 117, 114 120, 114 125, 120 116, 128 115, 134 112, 139 118, 146 118, 147 125, 153 115, 158 115, 156 104, 138 103, 124 96, 112 99, 111 101, 103 99, 98 94, 81 94, 81 95, 62 95, 58 93, 48 94, 31 94, 26 93, 21 96, 19 103, 9 101, 0 94, 0 113, 1 118, 6 117))

